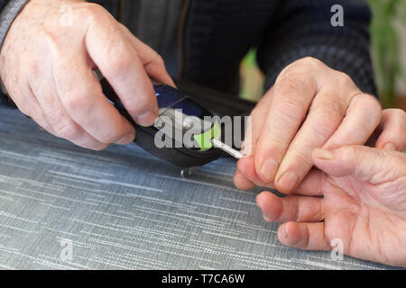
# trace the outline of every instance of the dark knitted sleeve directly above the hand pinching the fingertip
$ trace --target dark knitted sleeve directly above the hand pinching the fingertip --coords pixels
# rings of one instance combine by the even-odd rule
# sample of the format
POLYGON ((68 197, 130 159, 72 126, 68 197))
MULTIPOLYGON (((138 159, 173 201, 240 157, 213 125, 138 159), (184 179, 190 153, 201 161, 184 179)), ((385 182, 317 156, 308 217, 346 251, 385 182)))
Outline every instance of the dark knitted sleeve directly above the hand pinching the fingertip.
POLYGON ((273 85, 281 70, 297 59, 318 58, 345 72, 365 93, 376 93, 370 57, 371 12, 364 0, 284 0, 277 20, 258 48, 258 62, 273 85), (333 27, 331 7, 344 8, 344 26, 333 27))

